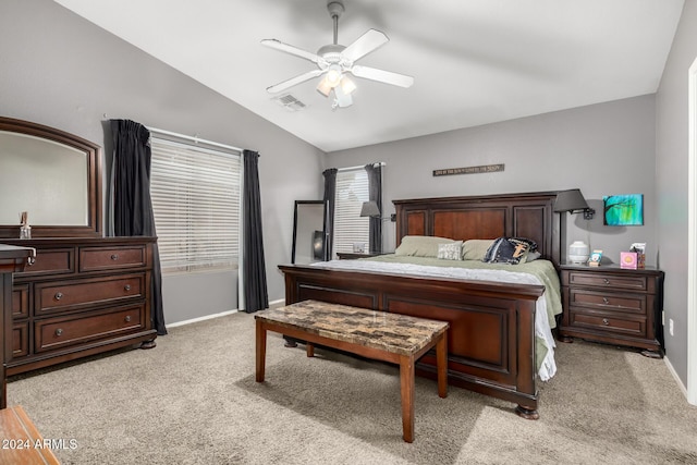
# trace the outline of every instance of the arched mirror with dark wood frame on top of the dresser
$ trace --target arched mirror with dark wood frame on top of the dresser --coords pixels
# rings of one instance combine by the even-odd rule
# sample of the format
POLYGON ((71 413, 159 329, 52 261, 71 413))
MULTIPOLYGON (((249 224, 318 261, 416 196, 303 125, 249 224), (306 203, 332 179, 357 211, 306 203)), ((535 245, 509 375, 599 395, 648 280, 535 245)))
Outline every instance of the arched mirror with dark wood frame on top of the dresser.
POLYGON ((101 236, 99 147, 53 127, 0 118, 0 237, 101 236))

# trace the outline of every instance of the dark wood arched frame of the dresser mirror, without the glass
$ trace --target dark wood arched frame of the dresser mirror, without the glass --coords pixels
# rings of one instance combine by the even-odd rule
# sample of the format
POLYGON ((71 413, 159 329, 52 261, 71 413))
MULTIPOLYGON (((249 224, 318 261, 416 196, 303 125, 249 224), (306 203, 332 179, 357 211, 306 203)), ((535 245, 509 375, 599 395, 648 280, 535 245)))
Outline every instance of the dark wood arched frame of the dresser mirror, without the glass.
MULTIPOLYGON (((101 160, 99 146, 76 135, 29 121, 0 117, 0 131, 27 134, 57 142, 86 155, 87 170, 87 224, 49 225, 32 224, 35 237, 101 237, 101 160)), ((29 217, 30 219, 30 217, 29 217)), ((19 238, 20 224, 0 224, 0 237, 19 238)))

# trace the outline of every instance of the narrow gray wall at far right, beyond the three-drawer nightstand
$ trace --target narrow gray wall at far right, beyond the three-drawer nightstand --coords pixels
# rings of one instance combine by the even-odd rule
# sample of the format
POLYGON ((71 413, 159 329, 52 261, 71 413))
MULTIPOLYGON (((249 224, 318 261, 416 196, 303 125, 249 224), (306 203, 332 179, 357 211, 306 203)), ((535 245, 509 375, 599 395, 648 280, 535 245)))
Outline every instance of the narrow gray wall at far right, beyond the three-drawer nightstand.
MULTIPOLYGON (((659 210, 660 265, 665 271, 665 351, 673 369, 687 383, 687 221, 688 121, 687 72, 697 57, 697 2, 686 1, 677 34, 657 93, 656 191, 659 210)), ((694 259, 694 258, 693 258, 694 259)), ((694 311, 694 309, 693 309, 694 311)), ((697 334, 693 334, 693 338, 697 334)), ((692 362, 697 368, 697 360, 692 362)), ((689 387, 694 389, 694 387, 689 387)))

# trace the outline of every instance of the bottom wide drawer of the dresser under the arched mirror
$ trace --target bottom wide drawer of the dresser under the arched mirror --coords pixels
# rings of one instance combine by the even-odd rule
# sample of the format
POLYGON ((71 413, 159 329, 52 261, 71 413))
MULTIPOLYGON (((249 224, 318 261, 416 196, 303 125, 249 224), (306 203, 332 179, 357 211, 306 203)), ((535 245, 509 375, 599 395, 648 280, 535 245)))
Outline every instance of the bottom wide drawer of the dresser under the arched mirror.
POLYGON ((49 318, 34 322, 34 351, 53 351, 99 339, 112 339, 146 327, 144 304, 101 313, 49 318))

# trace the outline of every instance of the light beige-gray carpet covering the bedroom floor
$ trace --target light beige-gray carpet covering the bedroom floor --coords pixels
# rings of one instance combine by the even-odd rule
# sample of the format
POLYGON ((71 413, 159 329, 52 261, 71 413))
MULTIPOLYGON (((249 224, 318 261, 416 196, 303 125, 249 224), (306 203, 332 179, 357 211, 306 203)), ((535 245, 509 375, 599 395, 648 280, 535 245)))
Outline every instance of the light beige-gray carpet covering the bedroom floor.
POLYGON ((697 463, 697 407, 663 360, 577 341, 558 344, 537 421, 513 404, 416 380, 415 441, 402 441, 399 369, 270 333, 254 381, 254 316, 172 328, 150 351, 14 377, 45 438, 75 439, 63 464, 697 463))

